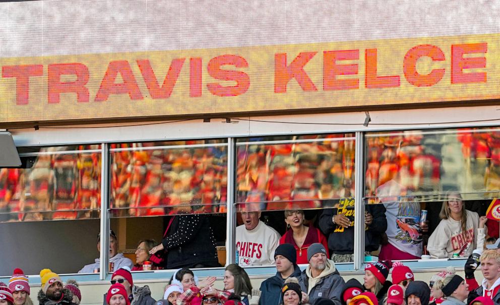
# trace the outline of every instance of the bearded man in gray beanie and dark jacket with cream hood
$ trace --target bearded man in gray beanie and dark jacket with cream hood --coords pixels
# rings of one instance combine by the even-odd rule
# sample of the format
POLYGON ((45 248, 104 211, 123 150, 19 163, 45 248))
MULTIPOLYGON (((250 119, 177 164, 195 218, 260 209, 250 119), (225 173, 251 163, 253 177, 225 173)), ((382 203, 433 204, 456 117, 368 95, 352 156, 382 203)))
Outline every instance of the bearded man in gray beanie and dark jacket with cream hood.
POLYGON ((321 243, 313 243, 307 249, 309 266, 299 278, 300 287, 308 298, 304 302, 314 303, 317 298, 326 297, 341 305, 344 279, 335 268, 335 263, 328 259, 327 250, 321 243))

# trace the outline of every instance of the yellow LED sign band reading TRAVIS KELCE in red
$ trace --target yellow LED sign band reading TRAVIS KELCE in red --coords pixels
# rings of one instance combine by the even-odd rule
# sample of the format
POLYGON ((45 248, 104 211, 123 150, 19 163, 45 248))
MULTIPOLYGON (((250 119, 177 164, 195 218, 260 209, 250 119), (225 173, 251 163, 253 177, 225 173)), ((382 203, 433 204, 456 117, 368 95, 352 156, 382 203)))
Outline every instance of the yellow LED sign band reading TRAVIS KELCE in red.
POLYGON ((0 59, 0 124, 500 98, 500 34, 0 59))

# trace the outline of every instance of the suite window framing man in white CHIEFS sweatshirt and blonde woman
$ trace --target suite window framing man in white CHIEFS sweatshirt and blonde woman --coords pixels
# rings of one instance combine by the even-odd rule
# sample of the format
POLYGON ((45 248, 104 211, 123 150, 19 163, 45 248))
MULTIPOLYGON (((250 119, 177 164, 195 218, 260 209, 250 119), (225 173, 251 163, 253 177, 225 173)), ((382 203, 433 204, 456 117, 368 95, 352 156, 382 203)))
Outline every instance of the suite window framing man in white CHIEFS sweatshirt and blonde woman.
MULTIPOLYGON (((308 263, 307 248, 316 242, 324 244, 331 258, 337 244, 334 207, 353 202, 354 149, 353 134, 237 141, 235 242, 240 266, 274 265, 281 243, 295 247, 298 264, 308 263)), ((343 236, 350 247, 338 262, 352 262, 353 236, 350 227, 343 236)))

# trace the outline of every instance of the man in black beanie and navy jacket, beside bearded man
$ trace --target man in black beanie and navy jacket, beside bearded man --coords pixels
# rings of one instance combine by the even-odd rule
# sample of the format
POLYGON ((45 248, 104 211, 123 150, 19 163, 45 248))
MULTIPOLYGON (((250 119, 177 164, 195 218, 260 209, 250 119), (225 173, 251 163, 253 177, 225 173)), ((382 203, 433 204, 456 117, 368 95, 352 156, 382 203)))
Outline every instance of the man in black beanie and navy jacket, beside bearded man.
POLYGON ((300 276, 300 268, 296 264, 297 253, 291 244, 280 244, 274 252, 274 259, 278 272, 261 283, 259 305, 278 304, 281 301, 281 288, 285 280, 300 276))

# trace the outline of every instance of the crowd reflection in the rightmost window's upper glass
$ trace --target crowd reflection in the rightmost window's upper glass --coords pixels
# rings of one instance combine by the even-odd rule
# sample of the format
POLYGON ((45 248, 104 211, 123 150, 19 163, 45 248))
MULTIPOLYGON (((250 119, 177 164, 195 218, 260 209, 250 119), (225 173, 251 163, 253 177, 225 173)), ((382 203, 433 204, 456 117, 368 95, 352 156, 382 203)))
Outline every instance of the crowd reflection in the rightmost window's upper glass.
POLYGON ((500 189, 499 128, 368 134, 365 155, 369 203, 407 195, 443 201, 453 191, 484 199, 500 189))

